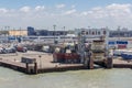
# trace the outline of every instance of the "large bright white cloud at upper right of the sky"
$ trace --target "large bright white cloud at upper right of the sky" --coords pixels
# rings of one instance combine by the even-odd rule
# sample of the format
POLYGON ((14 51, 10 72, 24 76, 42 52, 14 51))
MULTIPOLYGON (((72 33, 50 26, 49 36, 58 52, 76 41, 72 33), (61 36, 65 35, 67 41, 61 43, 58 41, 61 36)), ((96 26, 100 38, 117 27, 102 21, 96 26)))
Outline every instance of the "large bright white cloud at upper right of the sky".
POLYGON ((89 11, 84 11, 80 13, 81 15, 88 15, 90 18, 96 19, 106 19, 106 18, 113 18, 113 19, 122 19, 132 16, 132 4, 110 4, 105 8, 96 7, 89 11))

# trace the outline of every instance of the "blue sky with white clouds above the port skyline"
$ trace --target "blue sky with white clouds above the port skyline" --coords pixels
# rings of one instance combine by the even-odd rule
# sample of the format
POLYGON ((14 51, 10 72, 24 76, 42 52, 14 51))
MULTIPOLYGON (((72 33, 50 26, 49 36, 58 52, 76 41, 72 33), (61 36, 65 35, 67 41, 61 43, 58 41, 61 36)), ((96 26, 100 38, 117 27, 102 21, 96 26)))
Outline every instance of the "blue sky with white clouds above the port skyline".
POLYGON ((0 29, 132 30, 132 0, 0 0, 0 29))

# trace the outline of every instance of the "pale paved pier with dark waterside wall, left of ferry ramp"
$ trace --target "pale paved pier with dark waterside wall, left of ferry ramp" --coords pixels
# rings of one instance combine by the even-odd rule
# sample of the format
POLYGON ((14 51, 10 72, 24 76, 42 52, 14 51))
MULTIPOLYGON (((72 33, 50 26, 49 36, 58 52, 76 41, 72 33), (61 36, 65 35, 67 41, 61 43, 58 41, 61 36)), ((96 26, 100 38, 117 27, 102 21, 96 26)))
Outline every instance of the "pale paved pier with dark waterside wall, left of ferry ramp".
POLYGON ((0 56, 0 66, 8 67, 25 74, 41 74, 41 73, 53 73, 53 72, 65 72, 65 70, 78 70, 85 69, 82 64, 61 64, 53 62, 52 54, 43 54, 40 52, 29 52, 28 54, 10 54, 0 56), (41 56, 41 57, 40 57, 41 56), (35 58, 36 62, 22 63, 21 58, 35 58), (15 58, 15 59, 14 59, 15 58))

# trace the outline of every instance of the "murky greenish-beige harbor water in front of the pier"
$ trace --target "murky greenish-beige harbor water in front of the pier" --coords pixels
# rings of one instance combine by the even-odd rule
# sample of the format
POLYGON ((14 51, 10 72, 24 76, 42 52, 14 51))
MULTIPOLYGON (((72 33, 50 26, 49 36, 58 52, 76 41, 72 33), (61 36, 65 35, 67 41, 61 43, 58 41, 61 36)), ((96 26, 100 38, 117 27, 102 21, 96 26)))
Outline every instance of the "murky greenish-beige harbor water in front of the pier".
POLYGON ((25 75, 0 67, 0 88, 132 88, 131 82, 129 68, 25 75))

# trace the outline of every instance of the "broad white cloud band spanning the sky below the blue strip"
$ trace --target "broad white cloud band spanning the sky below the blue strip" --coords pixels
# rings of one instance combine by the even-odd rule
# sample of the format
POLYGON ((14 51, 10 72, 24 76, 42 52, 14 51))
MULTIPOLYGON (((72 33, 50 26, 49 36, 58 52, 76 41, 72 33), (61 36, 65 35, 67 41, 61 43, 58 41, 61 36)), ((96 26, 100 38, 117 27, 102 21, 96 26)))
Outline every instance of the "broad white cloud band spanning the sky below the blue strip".
POLYGON ((79 26, 129 26, 132 28, 132 4, 112 3, 107 7, 95 7, 80 11, 77 6, 67 8, 65 4, 54 7, 36 6, 22 7, 20 9, 0 8, 0 23, 13 26, 50 28, 54 23, 57 26, 79 28, 79 26), (64 8, 62 10, 62 8, 64 8), (57 8, 57 9, 56 9, 57 8), (25 12, 28 12, 25 14, 25 12), (70 16, 74 15, 74 16, 70 16), (4 21, 4 22, 3 22, 4 21), (13 22, 12 22, 13 21, 13 22))

